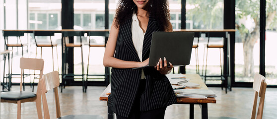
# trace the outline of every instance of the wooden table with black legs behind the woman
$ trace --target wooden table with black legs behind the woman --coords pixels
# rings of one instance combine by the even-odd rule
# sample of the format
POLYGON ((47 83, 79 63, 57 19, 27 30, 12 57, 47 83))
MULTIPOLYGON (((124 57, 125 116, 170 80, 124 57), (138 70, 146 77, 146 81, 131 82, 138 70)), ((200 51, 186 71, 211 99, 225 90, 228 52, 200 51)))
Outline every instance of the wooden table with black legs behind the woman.
MULTIPOLYGON (((199 89, 207 89, 208 87, 203 82, 202 78, 198 74, 185 74, 186 78, 190 78, 190 82, 200 84, 199 89)), ((100 95, 100 101, 108 101, 107 92, 111 90, 110 84, 109 86, 102 92, 100 95)), ((189 104, 190 105, 190 119, 194 119, 194 105, 199 105, 202 111, 202 119, 208 119, 208 103, 216 103, 216 99, 212 97, 208 97, 207 99, 200 98, 181 98, 177 97, 176 104, 189 104)), ((114 119, 114 113, 109 108, 108 105, 108 119, 114 119)))

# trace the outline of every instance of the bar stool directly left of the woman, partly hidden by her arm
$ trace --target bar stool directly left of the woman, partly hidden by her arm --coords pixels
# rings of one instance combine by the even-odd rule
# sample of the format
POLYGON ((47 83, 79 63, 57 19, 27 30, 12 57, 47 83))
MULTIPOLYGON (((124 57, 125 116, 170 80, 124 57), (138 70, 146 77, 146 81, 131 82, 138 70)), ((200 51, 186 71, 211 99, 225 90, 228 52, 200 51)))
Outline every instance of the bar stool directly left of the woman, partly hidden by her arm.
POLYGON ((106 73, 105 74, 88 74, 88 66, 89 66, 89 55, 90 55, 90 48, 91 47, 103 47, 105 48, 105 44, 103 45, 95 45, 95 44, 90 44, 90 36, 107 36, 105 32, 88 32, 89 41, 88 41, 88 60, 87 60, 87 70, 86 70, 86 82, 85 82, 85 91, 87 89, 87 83, 88 79, 93 79, 93 78, 88 78, 88 76, 105 76, 106 78, 106 73))

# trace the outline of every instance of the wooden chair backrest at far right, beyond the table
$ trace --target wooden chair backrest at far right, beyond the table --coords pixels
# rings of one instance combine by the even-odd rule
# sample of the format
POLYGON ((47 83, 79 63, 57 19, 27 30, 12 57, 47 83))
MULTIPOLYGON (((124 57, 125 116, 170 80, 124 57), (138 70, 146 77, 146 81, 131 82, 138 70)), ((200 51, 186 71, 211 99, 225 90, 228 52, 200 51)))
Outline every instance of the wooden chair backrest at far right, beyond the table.
POLYGON ((253 108, 252 108, 251 119, 256 118, 258 96, 261 98, 260 98, 260 103, 259 103, 256 119, 263 118, 265 95, 266 95, 266 89, 267 89, 267 83, 265 82, 265 79, 266 78, 263 75, 260 75, 258 73, 255 74, 254 82, 253 82, 253 89, 255 90, 255 97, 254 97, 254 104, 253 104, 253 108))

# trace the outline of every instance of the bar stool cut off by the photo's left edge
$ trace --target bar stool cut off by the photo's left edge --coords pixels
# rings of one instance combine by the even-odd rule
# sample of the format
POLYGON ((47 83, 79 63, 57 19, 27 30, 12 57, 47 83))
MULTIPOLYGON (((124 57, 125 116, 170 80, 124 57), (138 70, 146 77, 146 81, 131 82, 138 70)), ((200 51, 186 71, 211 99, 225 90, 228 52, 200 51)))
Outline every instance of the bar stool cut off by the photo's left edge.
MULTIPOLYGON (((4 91, 4 89, 7 89, 7 91, 10 91, 10 78, 8 78, 8 81, 5 81, 5 65, 6 65, 6 57, 8 56, 9 58, 9 53, 11 51, 9 50, 5 50, 5 51, 1 51, 0 55, 3 55, 3 61, 4 61, 4 66, 3 66, 3 82, 1 82, 2 85, 2 91, 4 91)), ((9 62, 8 62, 8 75, 9 75, 9 62)))

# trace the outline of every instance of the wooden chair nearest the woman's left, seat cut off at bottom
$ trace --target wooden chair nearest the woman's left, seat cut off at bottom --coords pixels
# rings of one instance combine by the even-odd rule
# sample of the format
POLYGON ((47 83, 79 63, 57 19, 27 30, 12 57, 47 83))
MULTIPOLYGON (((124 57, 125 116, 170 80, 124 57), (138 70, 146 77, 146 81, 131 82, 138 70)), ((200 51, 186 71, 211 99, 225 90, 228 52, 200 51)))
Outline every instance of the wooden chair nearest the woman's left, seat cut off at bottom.
MULTIPOLYGON (((44 119, 50 119, 49 109, 46 100, 46 93, 49 90, 54 89, 55 93, 55 102, 56 102, 56 115, 57 119, 104 119, 99 115, 68 115, 61 116, 60 101, 58 94, 58 86, 60 85, 59 72, 53 71, 42 76, 42 79, 39 81, 38 90, 41 92, 42 104, 43 104, 43 113, 44 119)), ((40 110, 41 111, 41 110, 40 110)))

